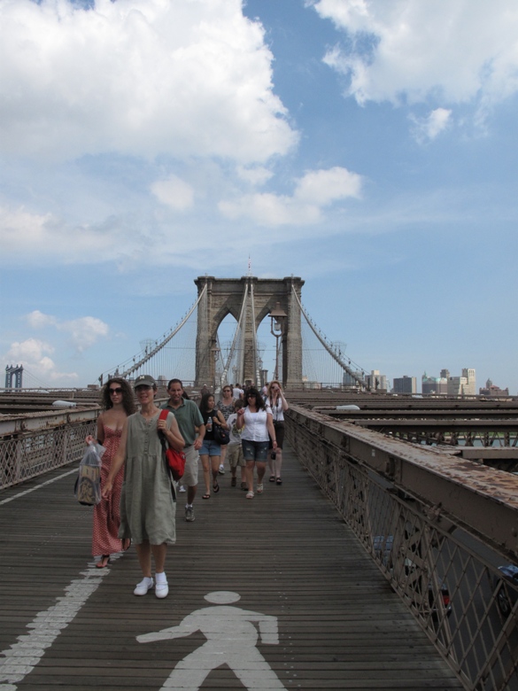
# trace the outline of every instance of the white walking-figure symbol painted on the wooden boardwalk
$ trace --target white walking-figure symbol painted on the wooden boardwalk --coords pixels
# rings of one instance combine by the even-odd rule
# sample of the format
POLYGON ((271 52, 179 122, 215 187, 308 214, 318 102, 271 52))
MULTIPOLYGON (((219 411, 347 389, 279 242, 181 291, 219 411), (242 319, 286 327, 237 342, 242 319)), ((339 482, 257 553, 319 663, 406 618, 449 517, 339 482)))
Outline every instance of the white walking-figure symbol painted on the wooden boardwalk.
POLYGON ((226 590, 206 594, 205 600, 213 602, 215 607, 196 609, 178 626, 136 637, 140 643, 149 643, 182 638, 196 631, 205 635, 206 642, 180 660, 162 688, 197 691, 212 670, 221 664, 228 664, 250 691, 285 691, 281 680, 256 647, 259 634, 261 643, 279 644, 277 617, 230 606, 231 602, 240 599, 240 594, 226 590), (258 625, 259 633, 254 624, 258 625))

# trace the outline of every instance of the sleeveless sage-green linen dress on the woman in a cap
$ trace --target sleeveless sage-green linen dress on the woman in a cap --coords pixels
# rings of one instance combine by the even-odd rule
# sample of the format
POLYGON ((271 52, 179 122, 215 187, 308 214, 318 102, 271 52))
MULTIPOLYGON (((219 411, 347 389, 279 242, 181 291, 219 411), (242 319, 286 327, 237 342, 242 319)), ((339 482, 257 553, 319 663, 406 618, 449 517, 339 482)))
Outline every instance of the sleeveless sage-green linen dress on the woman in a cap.
MULTIPOLYGON (((124 482, 120 494, 120 539, 140 545, 169 545, 176 541, 171 479, 158 437, 157 415, 146 420, 140 413, 128 417, 124 482)), ((166 418, 170 429, 174 415, 166 418)))

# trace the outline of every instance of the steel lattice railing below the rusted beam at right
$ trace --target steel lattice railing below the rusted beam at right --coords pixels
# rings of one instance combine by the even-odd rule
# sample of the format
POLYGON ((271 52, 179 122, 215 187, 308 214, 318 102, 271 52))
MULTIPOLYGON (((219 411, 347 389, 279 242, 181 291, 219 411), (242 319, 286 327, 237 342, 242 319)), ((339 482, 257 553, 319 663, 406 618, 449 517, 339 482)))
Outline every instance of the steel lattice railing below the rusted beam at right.
POLYGON ((347 433, 336 433, 340 423, 329 421, 329 434, 322 415, 301 410, 285 415, 290 445, 464 687, 517 691, 518 589, 498 570, 508 555, 369 468, 347 433))

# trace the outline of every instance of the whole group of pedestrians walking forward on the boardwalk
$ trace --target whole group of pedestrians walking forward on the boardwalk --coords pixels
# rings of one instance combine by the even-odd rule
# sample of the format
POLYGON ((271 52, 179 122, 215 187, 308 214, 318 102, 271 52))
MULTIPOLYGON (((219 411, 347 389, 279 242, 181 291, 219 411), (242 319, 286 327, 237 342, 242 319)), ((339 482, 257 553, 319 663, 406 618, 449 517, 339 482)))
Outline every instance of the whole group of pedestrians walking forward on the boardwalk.
POLYGON ((104 386, 104 411, 97 420, 97 439, 87 437, 106 449, 102 460, 102 500, 94 509, 92 554, 104 568, 110 555, 135 545, 143 579, 135 595, 144 595, 154 586, 158 598, 168 594, 165 571, 167 546, 174 544, 176 491, 166 462, 162 441, 186 458, 181 490, 187 493, 185 520, 193 522, 198 484, 198 456, 202 462, 205 494, 220 491, 219 476, 224 474, 228 457, 230 486, 241 487, 246 498, 254 497, 254 470, 257 467, 257 493, 264 491, 267 463, 270 481, 282 485, 283 413, 288 403, 277 381, 267 386, 264 395, 254 386, 244 392, 238 384, 223 387, 216 403, 212 392, 203 392, 199 407, 190 400, 182 381, 167 384, 168 400, 156 405, 157 384, 153 377, 141 375, 134 383, 135 396, 128 382, 113 377, 104 386), (238 394, 237 397, 235 394, 238 394), (161 419, 163 418, 163 419, 161 419), (218 431, 227 431, 228 444, 221 444, 218 431), (152 577, 151 556, 155 563, 152 577))

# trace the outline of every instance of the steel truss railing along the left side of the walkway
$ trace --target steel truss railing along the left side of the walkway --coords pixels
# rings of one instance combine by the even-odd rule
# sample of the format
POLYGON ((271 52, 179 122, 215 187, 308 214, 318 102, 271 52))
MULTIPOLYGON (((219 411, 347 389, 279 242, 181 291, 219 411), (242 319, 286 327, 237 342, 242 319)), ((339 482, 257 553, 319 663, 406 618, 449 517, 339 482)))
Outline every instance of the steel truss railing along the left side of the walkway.
MULTIPOLYGON (((27 429, 23 421, 0 436, 0 490, 30 477, 81 460, 85 437, 96 433, 98 410, 74 411, 73 415, 39 415, 27 429), (50 426, 51 423, 51 426, 50 426), (26 429, 21 429, 26 428, 26 429)), ((6 425, 5 425, 6 426, 6 425)))

